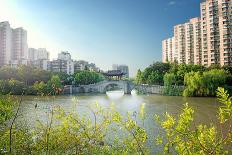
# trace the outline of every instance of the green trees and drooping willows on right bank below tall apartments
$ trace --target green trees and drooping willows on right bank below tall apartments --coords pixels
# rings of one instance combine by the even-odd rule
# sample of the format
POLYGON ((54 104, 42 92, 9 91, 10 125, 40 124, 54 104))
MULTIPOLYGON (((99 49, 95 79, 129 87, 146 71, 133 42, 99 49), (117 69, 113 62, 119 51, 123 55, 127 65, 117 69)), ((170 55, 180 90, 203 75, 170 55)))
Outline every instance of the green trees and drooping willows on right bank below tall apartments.
POLYGON ((232 92, 232 67, 187 65, 156 62, 138 71, 137 84, 164 85, 164 94, 183 96, 215 96, 218 87, 232 92), (175 86, 185 86, 184 90, 175 86))

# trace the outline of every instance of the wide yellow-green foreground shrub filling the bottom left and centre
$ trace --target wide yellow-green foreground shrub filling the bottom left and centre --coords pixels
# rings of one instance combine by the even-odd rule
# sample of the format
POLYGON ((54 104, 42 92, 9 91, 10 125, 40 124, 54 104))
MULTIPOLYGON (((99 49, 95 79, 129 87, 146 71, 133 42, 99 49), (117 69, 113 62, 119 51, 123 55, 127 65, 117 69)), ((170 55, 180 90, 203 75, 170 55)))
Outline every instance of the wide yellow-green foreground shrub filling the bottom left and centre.
MULTIPOLYGON (((104 110, 98 105, 90 109, 95 120, 78 113, 66 113, 57 107, 51 110, 47 123, 38 121, 31 132, 15 126, 0 135, 0 148, 5 154, 147 154, 147 135, 130 113, 124 119, 113 107, 104 110), (98 120, 98 121, 97 121, 98 120), (114 127, 111 125, 115 124, 114 127), (122 137, 120 133, 126 133, 122 137), (10 150, 9 136, 13 143, 10 150), (107 137, 112 135, 113 137, 107 137)), ((142 114, 141 114, 142 117, 142 114)))

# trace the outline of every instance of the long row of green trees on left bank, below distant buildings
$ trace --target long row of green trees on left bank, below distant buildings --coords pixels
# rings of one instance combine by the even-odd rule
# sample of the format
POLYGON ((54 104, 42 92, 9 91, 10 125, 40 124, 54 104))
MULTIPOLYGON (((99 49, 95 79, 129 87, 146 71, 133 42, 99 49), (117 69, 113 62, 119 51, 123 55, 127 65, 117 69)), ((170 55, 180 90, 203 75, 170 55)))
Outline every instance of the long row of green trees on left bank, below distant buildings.
POLYGON ((86 85, 104 80, 100 73, 80 71, 74 75, 54 73, 30 66, 0 68, 0 94, 58 95, 65 85, 86 85))

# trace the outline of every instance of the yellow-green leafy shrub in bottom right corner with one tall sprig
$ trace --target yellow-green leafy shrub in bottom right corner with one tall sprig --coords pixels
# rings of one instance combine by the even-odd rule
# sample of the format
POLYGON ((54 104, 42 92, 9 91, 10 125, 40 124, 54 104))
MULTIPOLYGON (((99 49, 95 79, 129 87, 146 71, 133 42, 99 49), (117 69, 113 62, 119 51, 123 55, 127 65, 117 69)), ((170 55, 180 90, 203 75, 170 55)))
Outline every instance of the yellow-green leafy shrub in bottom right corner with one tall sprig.
POLYGON ((228 147, 232 144, 232 104, 231 97, 223 88, 218 88, 217 96, 223 104, 219 108, 218 119, 221 129, 215 125, 193 126, 194 110, 185 105, 177 119, 166 113, 164 119, 155 116, 156 121, 164 130, 164 136, 156 139, 163 145, 163 154, 229 154, 228 147), (227 126, 229 125, 229 126, 227 126), (222 128, 224 126, 224 128, 222 128), (221 131, 222 130, 222 131, 221 131), (220 134, 224 133, 224 134, 220 134))

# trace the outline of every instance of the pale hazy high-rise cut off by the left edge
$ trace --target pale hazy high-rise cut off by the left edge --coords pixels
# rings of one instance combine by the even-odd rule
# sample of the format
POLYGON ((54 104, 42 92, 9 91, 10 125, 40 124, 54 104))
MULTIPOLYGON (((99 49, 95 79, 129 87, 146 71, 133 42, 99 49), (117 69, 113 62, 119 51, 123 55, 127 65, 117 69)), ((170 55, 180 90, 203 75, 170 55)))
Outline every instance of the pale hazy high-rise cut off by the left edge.
POLYGON ((9 22, 0 23, 0 66, 10 63, 12 51, 12 29, 9 22))

